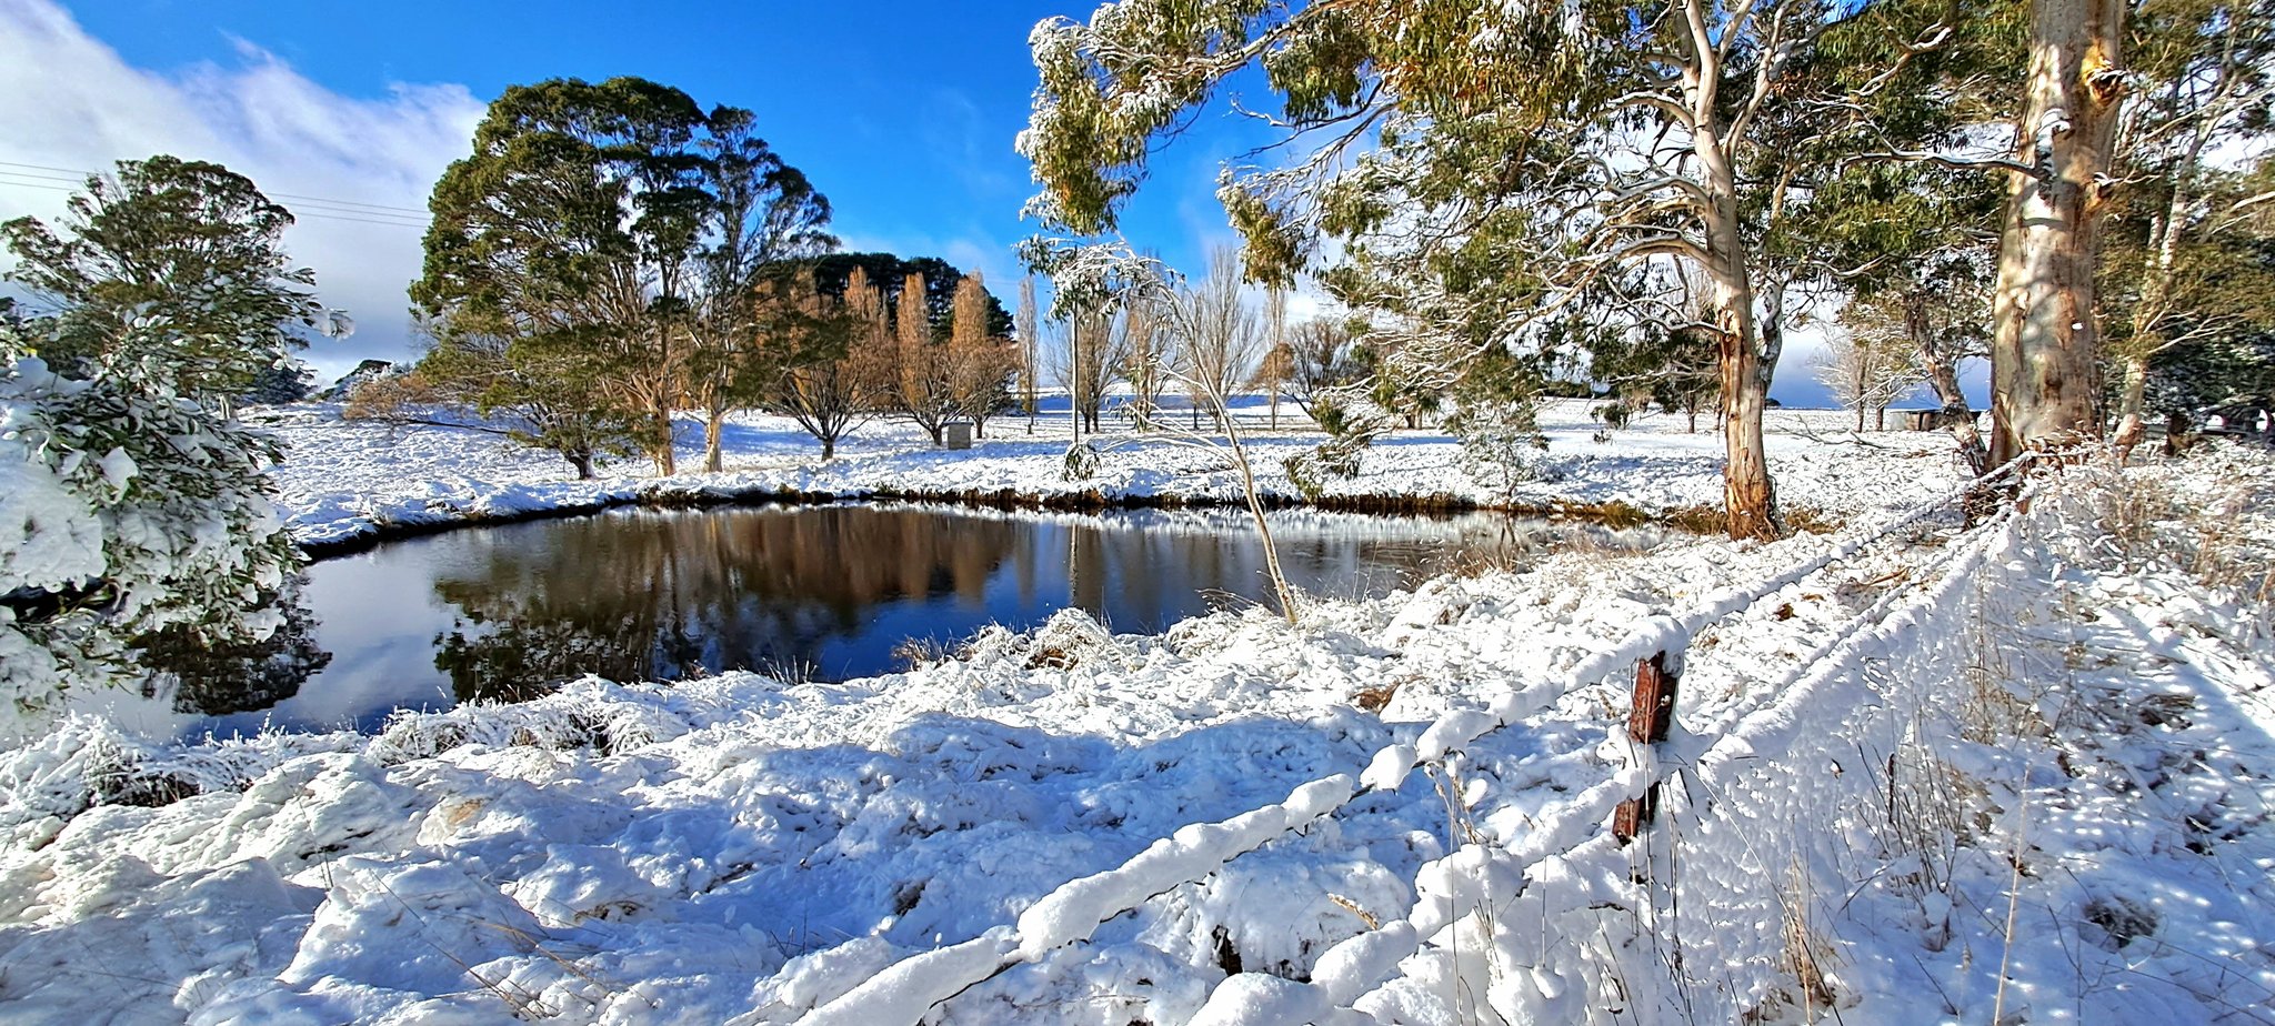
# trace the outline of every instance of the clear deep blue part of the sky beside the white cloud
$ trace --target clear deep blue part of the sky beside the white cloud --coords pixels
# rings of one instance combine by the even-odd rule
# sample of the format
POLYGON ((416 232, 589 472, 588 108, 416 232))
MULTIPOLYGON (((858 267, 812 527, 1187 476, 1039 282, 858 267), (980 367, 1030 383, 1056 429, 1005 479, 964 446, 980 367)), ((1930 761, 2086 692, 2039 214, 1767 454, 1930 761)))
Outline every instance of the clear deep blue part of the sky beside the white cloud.
MULTIPOLYGON (((758 114, 837 209, 851 243, 985 246, 1021 234, 1033 66, 1026 34, 1067 5, 1028 2, 71 2, 143 68, 239 59, 239 41, 355 98, 396 82, 478 100, 546 77, 639 75, 758 114)), ((965 264, 969 255, 949 255, 965 264)), ((999 289, 1001 291, 1001 289, 999 289)))

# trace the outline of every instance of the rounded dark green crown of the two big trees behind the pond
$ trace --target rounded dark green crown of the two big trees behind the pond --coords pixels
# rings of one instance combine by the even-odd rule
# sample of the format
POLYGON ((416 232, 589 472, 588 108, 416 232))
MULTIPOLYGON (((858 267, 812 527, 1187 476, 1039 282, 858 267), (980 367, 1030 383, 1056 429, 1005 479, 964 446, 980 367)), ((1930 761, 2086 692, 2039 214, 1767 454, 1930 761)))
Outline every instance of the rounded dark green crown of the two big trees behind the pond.
POLYGON ((439 339, 423 378, 514 409, 580 473, 623 446, 669 473, 682 403, 714 428, 753 403, 783 369, 764 282, 835 246, 828 200, 748 111, 637 77, 507 89, 430 209, 412 284, 439 339))

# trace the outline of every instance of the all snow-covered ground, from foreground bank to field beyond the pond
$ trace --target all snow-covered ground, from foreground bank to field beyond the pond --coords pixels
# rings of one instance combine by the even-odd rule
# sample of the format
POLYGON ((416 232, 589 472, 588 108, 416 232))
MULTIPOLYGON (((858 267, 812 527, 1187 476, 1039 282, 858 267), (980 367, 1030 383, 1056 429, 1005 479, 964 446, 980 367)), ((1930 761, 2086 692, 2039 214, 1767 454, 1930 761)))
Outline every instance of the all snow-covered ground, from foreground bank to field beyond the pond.
MULTIPOLYGON (((1552 423, 1531 496, 1706 503, 1713 444, 1674 428, 1552 423)), ((573 485, 316 416, 287 437, 312 541, 708 482, 573 485)), ((2275 1021, 2257 453, 2079 466, 2027 514, 1929 516, 1706 628, 1668 814, 1608 844, 1643 769, 1631 671, 1599 655, 1954 480, 1941 439, 1870 441, 1897 448, 1772 439, 1788 500, 1845 535, 1565 553, 1297 626, 1062 614, 876 680, 585 680, 375 737, 61 723, 0 758, 0 1019, 890 1021, 962 969, 985 981, 926 1021, 2275 1021), (1583 664, 1476 735, 1492 696, 1583 664), (1242 833, 1263 844, 1206 871, 1242 833)), ((744 423, 726 480, 1053 494, 1058 450, 878 432, 814 466, 744 423)), ((1099 487, 1226 487, 1172 460, 1201 457, 1122 448, 1099 487)), ((1354 491, 1486 498, 1433 437, 1367 460, 1354 491)))

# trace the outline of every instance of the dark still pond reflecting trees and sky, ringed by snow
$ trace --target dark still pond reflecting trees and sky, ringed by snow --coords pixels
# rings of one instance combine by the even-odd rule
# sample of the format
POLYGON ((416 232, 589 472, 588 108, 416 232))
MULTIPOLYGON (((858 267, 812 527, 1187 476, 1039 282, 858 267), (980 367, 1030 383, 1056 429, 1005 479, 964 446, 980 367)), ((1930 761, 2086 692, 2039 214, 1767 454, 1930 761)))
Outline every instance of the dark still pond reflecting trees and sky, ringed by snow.
MULTIPOLYGON (((1272 514, 1290 582, 1360 598, 1461 560, 1524 560, 1574 537, 1643 548, 1656 532, 1504 514, 1272 514)), ((462 528, 307 569, 289 637, 109 712, 148 735, 371 730, 391 710, 537 696, 562 680, 680 680, 755 669, 849 680, 905 667, 987 623, 1081 607, 1156 632, 1269 585, 1231 510, 1012 514, 942 505, 617 510, 462 528), (250 671, 248 671, 250 667, 250 671)), ((202 669, 198 669, 202 667, 202 669)))

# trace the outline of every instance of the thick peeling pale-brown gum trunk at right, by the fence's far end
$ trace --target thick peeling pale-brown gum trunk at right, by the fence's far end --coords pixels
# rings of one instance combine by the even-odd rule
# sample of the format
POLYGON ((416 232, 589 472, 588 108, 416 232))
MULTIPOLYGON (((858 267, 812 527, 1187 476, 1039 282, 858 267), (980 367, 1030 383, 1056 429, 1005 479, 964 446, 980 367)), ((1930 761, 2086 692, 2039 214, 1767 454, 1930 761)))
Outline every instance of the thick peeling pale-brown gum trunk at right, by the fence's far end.
POLYGON ((2093 262, 2116 136, 2123 0, 2036 0, 2018 164, 2000 227, 1991 462, 2100 437, 2093 262))

